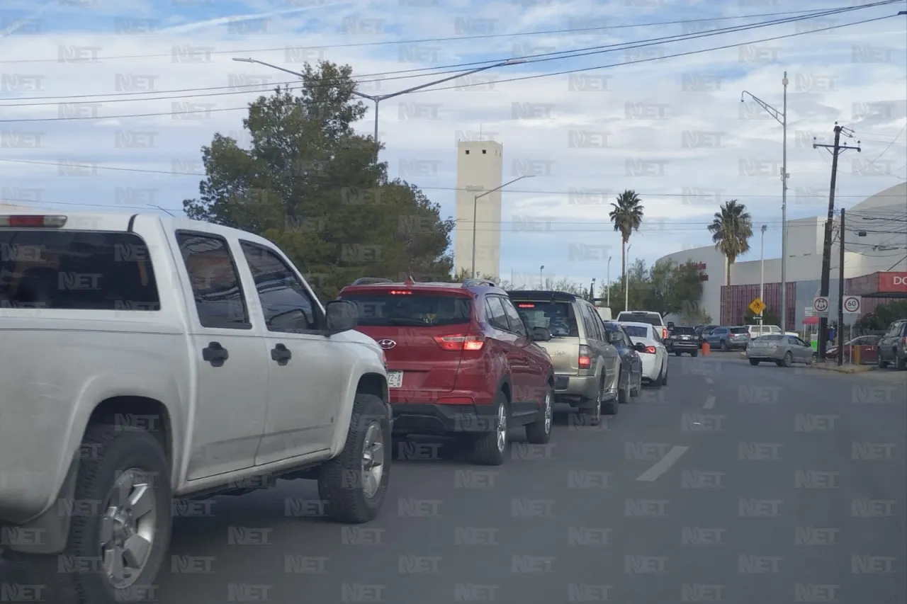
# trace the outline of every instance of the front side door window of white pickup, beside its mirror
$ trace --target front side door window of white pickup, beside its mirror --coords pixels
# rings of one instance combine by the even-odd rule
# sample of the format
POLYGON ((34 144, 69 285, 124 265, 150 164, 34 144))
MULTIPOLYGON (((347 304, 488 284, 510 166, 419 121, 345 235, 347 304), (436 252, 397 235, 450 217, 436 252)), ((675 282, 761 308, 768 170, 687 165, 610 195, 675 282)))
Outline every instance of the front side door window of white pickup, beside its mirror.
POLYGON ((273 250, 249 241, 239 247, 249 263, 268 331, 316 331, 317 305, 292 268, 273 250))

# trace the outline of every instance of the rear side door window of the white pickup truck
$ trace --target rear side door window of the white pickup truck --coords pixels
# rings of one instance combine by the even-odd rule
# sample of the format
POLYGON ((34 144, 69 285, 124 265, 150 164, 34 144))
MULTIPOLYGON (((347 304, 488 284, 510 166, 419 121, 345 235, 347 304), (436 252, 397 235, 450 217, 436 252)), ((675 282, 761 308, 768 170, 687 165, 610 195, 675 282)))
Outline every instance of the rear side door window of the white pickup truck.
POLYGON ((227 239, 179 231, 180 254, 202 327, 250 329, 249 309, 227 239))

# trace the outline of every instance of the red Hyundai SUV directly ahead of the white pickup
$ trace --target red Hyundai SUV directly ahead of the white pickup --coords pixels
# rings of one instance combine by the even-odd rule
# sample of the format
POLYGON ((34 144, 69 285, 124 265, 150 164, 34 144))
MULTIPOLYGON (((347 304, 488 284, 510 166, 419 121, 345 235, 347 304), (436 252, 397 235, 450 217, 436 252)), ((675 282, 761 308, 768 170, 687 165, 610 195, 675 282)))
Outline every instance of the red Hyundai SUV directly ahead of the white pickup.
POLYGON ((530 443, 551 439, 554 372, 507 292, 492 281, 416 283, 356 279, 340 299, 356 302, 357 330, 387 358, 395 434, 442 434, 472 442, 477 463, 503 463, 508 428, 530 443))

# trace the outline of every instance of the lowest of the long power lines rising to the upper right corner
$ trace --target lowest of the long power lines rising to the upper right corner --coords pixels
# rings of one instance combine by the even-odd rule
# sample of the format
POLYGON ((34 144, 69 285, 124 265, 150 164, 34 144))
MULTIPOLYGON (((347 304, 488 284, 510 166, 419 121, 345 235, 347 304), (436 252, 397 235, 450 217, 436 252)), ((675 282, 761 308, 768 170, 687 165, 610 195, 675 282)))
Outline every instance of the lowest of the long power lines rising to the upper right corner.
MULTIPOLYGON (((892 2, 894 0, 889 0, 889 1, 892 2)), ((773 36, 773 37, 769 37, 769 38, 763 38, 761 40, 751 40, 751 41, 748 41, 745 43, 727 44, 724 46, 716 46, 713 48, 704 48, 704 49, 700 49, 700 50, 696 50, 696 51, 689 51, 687 53, 666 54, 663 56, 649 57, 649 58, 645 58, 645 59, 638 59, 638 60, 627 61, 627 62, 623 62, 623 63, 610 63, 610 64, 606 64, 606 65, 597 65, 597 66, 593 66, 593 67, 572 69, 572 70, 566 70, 566 71, 562 71, 562 72, 541 73, 541 74, 528 75, 528 76, 522 76, 522 77, 517 77, 517 78, 509 78, 509 79, 505 79, 505 80, 496 80, 494 83, 521 82, 523 80, 535 80, 535 79, 539 79, 539 78, 552 77, 555 75, 564 75, 564 74, 568 74, 568 73, 590 72, 593 70, 605 69, 605 68, 609 68, 609 67, 619 67, 622 65, 631 65, 631 64, 637 64, 637 63, 649 63, 651 61, 661 61, 661 60, 668 59, 668 58, 689 56, 689 55, 693 55, 693 54, 704 54, 704 53, 709 53, 709 52, 713 52, 713 51, 717 51, 717 50, 727 50, 729 48, 737 48, 737 47, 746 46, 749 44, 758 44, 758 43, 762 43, 762 42, 771 42, 774 40, 781 40, 781 39, 785 39, 785 38, 795 37, 798 35, 815 34, 818 32, 839 29, 842 27, 850 27, 853 25, 873 23, 876 21, 882 21, 883 19, 891 18, 891 16, 892 15, 884 16, 884 17, 876 17, 873 19, 866 19, 863 21, 857 21, 857 22, 853 22, 853 23, 849 23, 849 24, 833 25, 833 26, 829 26, 829 27, 814 29, 809 32, 797 32, 795 34, 778 35, 778 36, 773 36)), ((714 33, 712 33, 712 34, 714 35, 714 33)), ((700 37, 707 37, 707 36, 700 36, 700 37)), ((645 44, 643 44, 643 45, 645 45, 645 44)), ((627 50, 627 48, 618 49, 618 50, 627 50)), ((596 52, 596 53, 591 53, 591 54, 600 54, 600 53, 601 53, 601 51, 596 52)), ((572 58, 572 57, 566 57, 566 58, 572 58)), ((528 63, 540 63, 541 61, 546 61, 546 60, 549 60, 549 59, 540 59, 539 61, 533 61, 533 62, 528 62, 528 63)), ((325 84, 325 85, 327 86, 329 84, 325 84)), ((483 82, 463 83, 463 84, 458 84, 458 85, 454 85, 454 86, 445 86, 442 88, 430 88, 430 89, 418 90, 418 91, 413 91, 413 93, 438 92, 438 91, 444 91, 444 90, 470 88, 473 86, 482 86, 482 85, 487 85, 487 83, 483 83, 483 82)), ((185 114, 197 114, 197 113, 208 114, 208 113, 213 113, 213 112, 248 111, 248 110, 249 110, 249 106, 247 105, 245 107, 224 107, 224 108, 220 108, 220 109, 207 109, 206 108, 203 110, 195 110, 195 111, 190 110, 190 111, 180 111, 180 112, 150 112, 150 113, 132 113, 132 114, 107 115, 107 116, 77 116, 77 117, 63 117, 63 118, 56 117, 56 118, 30 118, 30 119, 0 120, 0 123, 70 122, 70 121, 84 121, 84 120, 95 120, 96 121, 96 120, 115 120, 115 119, 122 119, 122 118, 158 117, 158 116, 164 116, 164 115, 173 116, 173 115, 185 115, 185 114)))

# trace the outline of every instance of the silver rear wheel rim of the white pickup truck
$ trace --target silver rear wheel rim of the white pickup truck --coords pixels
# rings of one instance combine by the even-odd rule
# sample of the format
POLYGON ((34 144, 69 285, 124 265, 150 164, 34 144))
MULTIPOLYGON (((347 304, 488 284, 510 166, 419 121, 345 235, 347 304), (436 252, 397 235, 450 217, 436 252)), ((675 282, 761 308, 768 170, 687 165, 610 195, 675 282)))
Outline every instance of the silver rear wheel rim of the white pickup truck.
POLYGON ((139 579, 151 554, 157 506, 151 476, 132 468, 122 472, 105 498, 101 519, 101 560, 114 589, 139 579))

